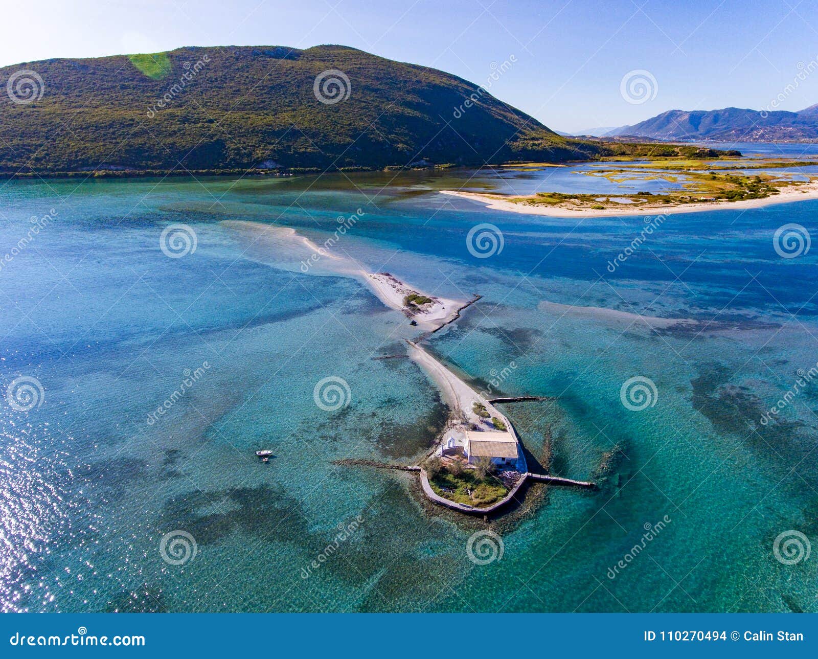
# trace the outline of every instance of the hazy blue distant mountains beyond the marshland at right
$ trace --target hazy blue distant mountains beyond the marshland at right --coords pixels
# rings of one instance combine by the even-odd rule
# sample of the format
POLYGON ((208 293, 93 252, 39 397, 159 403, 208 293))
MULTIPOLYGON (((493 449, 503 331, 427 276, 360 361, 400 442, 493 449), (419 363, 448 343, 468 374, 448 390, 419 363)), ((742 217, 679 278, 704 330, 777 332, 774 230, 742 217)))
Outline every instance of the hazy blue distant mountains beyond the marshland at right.
POLYGON ((668 110, 633 126, 622 126, 602 137, 647 137, 654 140, 816 141, 818 105, 800 112, 775 110, 668 110))

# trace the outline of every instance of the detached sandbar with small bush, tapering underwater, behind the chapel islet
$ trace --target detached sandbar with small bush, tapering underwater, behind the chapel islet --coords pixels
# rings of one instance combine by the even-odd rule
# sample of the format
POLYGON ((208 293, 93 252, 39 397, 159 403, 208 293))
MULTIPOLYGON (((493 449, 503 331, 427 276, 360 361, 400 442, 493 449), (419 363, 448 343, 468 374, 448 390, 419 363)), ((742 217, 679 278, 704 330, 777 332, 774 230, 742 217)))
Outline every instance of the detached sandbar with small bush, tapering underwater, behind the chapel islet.
POLYGON ((235 220, 222 224, 236 231, 251 256, 272 266, 313 275, 347 276, 362 281, 382 303, 402 312, 421 329, 440 329, 454 321, 461 310, 470 304, 466 300, 424 293, 389 272, 367 272, 355 259, 339 249, 333 249, 335 241, 332 239, 319 245, 288 226, 235 220), (431 302, 420 305, 406 303, 407 296, 411 294, 429 298, 431 302))

